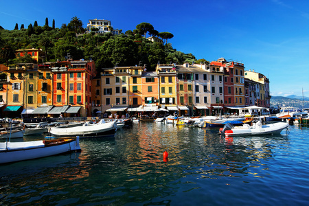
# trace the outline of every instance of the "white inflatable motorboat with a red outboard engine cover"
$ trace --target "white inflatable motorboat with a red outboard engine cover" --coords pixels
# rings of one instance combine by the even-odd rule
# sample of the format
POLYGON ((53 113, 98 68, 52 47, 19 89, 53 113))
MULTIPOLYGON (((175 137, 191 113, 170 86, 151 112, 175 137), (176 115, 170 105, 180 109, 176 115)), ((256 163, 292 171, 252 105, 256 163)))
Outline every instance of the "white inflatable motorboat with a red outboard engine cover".
POLYGON ((275 133, 281 133, 282 130, 288 128, 288 123, 277 122, 273 124, 262 125, 261 121, 253 123, 253 126, 249 124, 243 124, 242 126, 231 126, 227 124, 220 132, 225 136, 248 136, 248 135, 270 135, 275 133))

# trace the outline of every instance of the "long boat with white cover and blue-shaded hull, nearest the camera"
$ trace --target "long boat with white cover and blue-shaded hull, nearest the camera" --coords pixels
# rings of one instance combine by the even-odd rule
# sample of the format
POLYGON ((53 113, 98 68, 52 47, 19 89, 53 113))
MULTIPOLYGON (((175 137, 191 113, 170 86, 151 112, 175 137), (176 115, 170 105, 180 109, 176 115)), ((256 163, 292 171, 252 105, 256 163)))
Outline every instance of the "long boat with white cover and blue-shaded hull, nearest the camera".
POLYGON ((54 139, 0 143, 0 164, 59 155, 80 151, 79 137, 74 139, 54 139))

